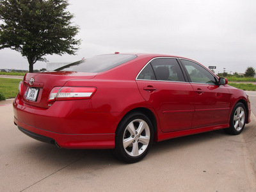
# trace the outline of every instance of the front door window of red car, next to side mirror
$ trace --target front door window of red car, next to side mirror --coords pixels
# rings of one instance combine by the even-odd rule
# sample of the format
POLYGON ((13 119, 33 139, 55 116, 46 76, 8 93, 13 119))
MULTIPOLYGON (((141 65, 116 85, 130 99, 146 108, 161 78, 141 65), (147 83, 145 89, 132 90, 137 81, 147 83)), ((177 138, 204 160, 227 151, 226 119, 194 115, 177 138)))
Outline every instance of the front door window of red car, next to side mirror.
POLYGON ((204 67, 188 60, 182 60, 182 63, 185 65, 186 70, 188 70, 189 77, 193 83, 216 83, 215 77, 204 67))

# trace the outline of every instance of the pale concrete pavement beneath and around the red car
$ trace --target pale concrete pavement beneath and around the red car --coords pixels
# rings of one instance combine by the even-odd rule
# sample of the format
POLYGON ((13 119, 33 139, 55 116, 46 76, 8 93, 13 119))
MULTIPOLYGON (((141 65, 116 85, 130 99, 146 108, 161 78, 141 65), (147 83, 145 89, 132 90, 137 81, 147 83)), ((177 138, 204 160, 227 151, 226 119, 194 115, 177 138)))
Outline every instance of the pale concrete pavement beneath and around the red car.
MULTIPOLYGON (((255 110, 256 92, 249 94, 255 110)), ((238 136, 219 130, 163 141, 124 164, 111 150, 29 138, 13 124, 11 102, 0 102, 0 191, 256 191, 254 115, 238 136)))

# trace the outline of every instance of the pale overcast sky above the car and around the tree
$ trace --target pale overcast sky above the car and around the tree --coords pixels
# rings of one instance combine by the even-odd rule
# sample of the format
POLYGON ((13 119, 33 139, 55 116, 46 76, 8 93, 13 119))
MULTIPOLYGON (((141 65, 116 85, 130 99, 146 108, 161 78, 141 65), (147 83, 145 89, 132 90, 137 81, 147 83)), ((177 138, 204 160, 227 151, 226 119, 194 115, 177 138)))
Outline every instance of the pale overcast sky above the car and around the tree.
MULTIPOLYGON (((215 72, 256 68, 255 0, 70 0, 80 27, 76 55, 47 55, 49 63, 73 62, 116 51, 183 56, 215 72)), ((0 50, 0 68, 28 69, 19 52, 0 50)), ((46 68, 38 61, 34 69, 46 68)))

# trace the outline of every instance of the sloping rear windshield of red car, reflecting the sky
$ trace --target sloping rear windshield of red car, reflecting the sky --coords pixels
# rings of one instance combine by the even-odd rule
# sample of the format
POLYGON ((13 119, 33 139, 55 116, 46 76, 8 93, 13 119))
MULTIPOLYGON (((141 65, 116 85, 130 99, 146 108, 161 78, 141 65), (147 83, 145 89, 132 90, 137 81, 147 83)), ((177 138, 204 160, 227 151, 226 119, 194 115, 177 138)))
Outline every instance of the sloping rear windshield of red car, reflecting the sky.
POLYGON ((91 72, 99 73, 135 59, 134 54, 103 54, 86 60, 70 63, 55 71, 91 72))

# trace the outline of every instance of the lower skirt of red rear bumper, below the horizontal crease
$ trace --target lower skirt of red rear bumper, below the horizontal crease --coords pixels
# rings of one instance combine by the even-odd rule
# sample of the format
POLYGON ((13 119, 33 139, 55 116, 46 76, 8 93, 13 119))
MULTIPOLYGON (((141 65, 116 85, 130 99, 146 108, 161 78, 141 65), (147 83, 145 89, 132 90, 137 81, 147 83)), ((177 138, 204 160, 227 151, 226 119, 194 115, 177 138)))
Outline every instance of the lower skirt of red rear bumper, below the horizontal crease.
POLYGON ((61 134, 24 124, 14 118, 20 131, 35 140, 51 143, 61 148, 115 148, 115 134, 61 134))

